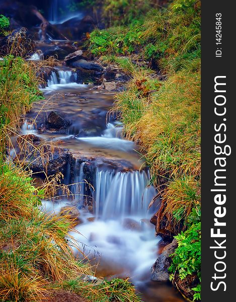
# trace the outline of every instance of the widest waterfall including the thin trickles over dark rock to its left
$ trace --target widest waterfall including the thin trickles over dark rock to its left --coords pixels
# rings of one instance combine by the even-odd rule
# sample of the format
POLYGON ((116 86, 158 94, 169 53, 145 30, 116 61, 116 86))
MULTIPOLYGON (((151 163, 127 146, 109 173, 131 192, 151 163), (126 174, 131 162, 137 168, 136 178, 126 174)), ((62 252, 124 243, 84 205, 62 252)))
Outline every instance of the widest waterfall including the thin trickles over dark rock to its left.
POLYGON ((94 214, 103 220, 127 216, 150 217, 153 208, 148 210, 148 205, 156 190, 149 185, 148 170, 122 172, 107 170, 106 167, 96 168, 95 171, 90 168, 89 176, 86 176, 85 165, 85 162, 75 160, 73 178, 66 181, 73 183, 71 192, 76 203, 82 205, 88 198, 93 199, 94 214), (91 180, 94 190, 89 188, 91 180))

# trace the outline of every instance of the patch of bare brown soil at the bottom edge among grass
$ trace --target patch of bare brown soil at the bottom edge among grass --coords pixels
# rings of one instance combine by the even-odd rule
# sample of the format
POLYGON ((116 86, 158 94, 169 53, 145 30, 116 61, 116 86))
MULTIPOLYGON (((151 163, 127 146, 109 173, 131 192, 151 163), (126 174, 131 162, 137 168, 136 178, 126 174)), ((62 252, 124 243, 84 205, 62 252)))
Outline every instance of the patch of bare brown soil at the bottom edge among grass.
POLYGON ((50 292, 45 302, 89 302, 89 300, 64 289, 55 289, 50 292))

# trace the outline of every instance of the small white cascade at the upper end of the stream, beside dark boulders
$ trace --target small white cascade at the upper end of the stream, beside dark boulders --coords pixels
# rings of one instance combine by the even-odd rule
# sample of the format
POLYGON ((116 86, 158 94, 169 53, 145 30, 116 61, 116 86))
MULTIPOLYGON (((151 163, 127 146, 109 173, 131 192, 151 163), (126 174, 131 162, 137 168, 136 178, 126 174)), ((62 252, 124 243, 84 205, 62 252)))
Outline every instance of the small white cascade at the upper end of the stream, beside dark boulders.
POLYGON ((47 81, 47 87, 53 88, 54 85, 65 85, 76 82, 76 73, 71 70, 58 70, 58 74, 52 71, 47 81))

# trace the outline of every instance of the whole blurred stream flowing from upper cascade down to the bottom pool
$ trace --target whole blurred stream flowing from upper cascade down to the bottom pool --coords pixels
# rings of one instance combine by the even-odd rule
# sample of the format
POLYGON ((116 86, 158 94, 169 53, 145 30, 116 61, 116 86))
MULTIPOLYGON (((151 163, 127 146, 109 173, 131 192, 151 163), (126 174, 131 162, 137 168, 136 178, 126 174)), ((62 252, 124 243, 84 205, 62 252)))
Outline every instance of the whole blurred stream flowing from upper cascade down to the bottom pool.
POLYGON ((72 235, 98 265, 98 276, 129 276, 144 301, 183 301, 172 286, 149 281, 161 240, 149 222, 159 200, 149 209, 148 205, 157 192, 138 146, 124 139, 122 124, 107 114, 113 93, 92 88, 76 84, 73 70, 53 72, 42 89, 46 101, 34 104, 22 127, 23 134, 36 134, 52 110, 70 121, 67 129, 41 129, 37 134, 73 154, 64 177, 65 184, 72 184, 73 198, 44 201, 42 209, 59 213, 65 205, 77 206, 79 233, 72 235))

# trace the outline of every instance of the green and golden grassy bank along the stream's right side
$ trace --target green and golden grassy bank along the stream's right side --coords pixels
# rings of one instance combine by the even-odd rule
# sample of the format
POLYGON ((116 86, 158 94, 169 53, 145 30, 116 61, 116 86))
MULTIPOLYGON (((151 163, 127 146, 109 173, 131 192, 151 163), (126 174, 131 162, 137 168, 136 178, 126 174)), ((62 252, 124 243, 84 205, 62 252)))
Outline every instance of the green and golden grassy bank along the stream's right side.
POLYGON ((200 300, 201 288, 200 9, 200 1, 174 0, 119 23, 114 13, 112 26, 89 40, 92 54, 131 75, 116 110, 160 190, 156 232, 179 244, 170 279, 191 300, 200 300))

